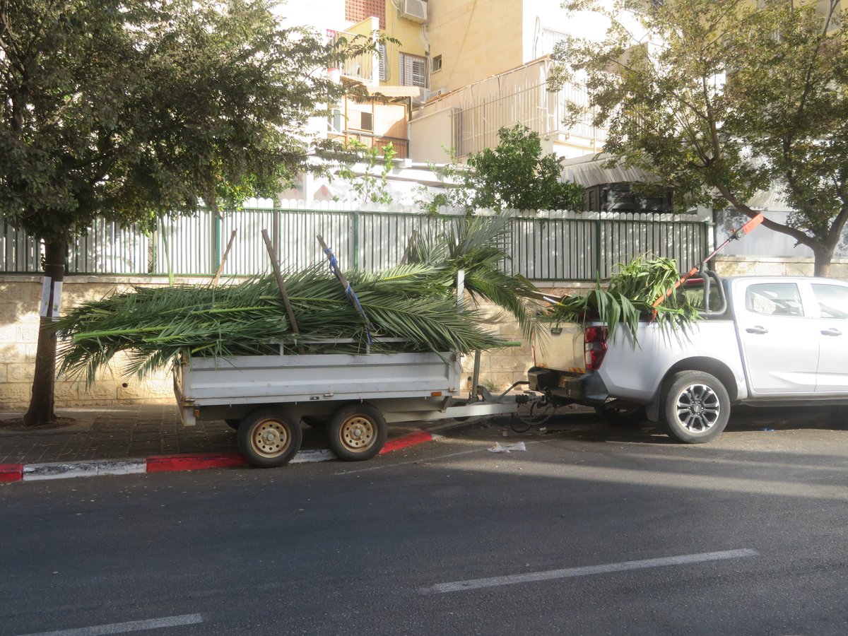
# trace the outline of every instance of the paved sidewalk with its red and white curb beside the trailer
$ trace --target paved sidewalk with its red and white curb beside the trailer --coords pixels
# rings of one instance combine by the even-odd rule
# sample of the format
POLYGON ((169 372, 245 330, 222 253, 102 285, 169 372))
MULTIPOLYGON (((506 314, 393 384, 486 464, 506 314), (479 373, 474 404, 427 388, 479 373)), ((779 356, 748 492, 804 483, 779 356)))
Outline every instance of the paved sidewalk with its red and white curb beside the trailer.
MULTIPOLYGON (((0 413, 0 422, 20 415, 0 413)), ((56 415, 73 423, 34 430, 0 424, 0 482, 246 466, 231 427, 223 421, 183 427, 172 404, 59 409, 56 415)), ((383 452, 437 437, 432 429, 393 424, 383 452)), ((293 462, 332 459, 323 433, 304 427, 293 462)))

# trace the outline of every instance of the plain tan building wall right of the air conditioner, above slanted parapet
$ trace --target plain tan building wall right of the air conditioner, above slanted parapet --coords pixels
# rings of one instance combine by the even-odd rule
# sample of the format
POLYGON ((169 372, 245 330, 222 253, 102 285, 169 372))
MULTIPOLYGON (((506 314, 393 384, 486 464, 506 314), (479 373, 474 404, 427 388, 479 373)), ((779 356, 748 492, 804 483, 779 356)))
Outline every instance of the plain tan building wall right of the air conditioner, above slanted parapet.
POLYGON ((522 0, 429 0, 431 90, 454 90, 522 64, 522 0))

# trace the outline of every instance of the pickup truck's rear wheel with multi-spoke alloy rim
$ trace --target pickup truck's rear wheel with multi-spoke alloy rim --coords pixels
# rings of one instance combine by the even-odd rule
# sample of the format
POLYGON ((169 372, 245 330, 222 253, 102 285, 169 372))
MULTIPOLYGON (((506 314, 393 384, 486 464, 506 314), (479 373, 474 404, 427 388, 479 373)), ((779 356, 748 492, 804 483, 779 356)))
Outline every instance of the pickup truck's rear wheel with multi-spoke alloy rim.
POLYGON ((660 422, 678 442, 709 442, 724 430, 729 417, 728 390, 705 371, 681 371, 663 385, 660 422))

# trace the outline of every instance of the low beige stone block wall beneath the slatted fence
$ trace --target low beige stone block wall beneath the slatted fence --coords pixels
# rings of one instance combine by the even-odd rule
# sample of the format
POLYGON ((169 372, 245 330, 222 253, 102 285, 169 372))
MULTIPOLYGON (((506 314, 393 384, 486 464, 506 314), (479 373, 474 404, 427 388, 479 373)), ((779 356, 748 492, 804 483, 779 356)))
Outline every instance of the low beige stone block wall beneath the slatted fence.
MULTIPOLYGON (((201 281, 182 278, 178 282, 201 281)), ((123 292, 132 285, 161 287, 166 284, 167 280, 161 277, 67 276, 63 308, 68 310, 86 300, 103 298, 114 290, 123 292)), ((565 293, 574 288, 544 291, 565 293)), ((38 342, 41 289, 40 276, 0 276, 0 411, 25 410, 29 404, 38 342)), ((482 309, 490 316, 499 315, 493 307, 482 309)), ((513 382, 527 379, 527 369, 533 365, 533 350, 522 337, 515 321, 499 321, 494 329, 501 338, 521 343, 521 346, 485 352, 481 358, 480 383, 491 390, 502 391, 513 382)), ((91 387, 58 377, 56 407, 174 402, 173 384, 168 373, 163 371, 143 381, 127 378, 122 376, 121 362, 120 359, 114 360, 112 367, 102 372, 91 387)), ((463 389, 471 387, 473 368, 474 356, 468 355, 463 359, 466 371, 463 389)))

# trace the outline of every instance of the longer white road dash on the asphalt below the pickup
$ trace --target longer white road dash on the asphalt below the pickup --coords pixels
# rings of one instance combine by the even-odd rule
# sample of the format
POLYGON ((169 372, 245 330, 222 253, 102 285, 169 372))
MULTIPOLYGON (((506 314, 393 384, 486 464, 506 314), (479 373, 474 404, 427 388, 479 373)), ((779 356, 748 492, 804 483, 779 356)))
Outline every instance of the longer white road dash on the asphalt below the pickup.
POLYGON ((472 578, 468 581, 455 581, 453 583, 437 583, 429 588, 421 588, 421 594, 444 594, 445 592, 459 592, 463 589, 494 588, 499 585, 512 585, 514 583, 534 583, 537 581, 550 581, 555 578, 588 577, 593 574, 608 574, 610 572, 628 572, 631 570, 645 570, 651 567, 665 566, 687 566, 692 563, 704 563, 706 561, 725 561, 727 559, 740 559, 745 556, 756 556, 760 553, 756 550, 725 550, 723 552, 703 552, 700 555, 667 556, 661 559, 645 559, 644 561, 623 561, 622 563, 608 563, 601 566, 569 567, 563 570, 548 570, 546 572, 527 572, 526 574, 511 574, 503 577, 472 578))

